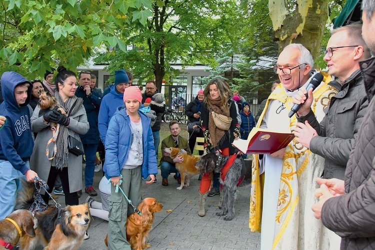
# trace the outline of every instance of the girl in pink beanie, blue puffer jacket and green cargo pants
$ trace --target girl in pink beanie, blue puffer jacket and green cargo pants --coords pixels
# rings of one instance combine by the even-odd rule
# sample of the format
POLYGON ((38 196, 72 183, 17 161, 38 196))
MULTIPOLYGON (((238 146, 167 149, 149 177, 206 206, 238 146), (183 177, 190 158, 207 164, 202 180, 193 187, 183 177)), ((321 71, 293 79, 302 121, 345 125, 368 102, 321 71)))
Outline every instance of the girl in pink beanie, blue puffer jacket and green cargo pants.
POLYGON ((153 145, 150 118, 138 109, 142 100, 140 90, 130 86, 123 93, 124 107, 117 108, 109 121, 105 137, 103 170, 110 177, 111 195, 108 210, 109 249, 130 249, 126 241, 126 218, 133 213, 123 194, 115 192, 118 185, 134 206, 140 203, 141 179, 150 176, 153 183, 157 161, 153 145), (122 182, 120 183, 120 180, 122 182))

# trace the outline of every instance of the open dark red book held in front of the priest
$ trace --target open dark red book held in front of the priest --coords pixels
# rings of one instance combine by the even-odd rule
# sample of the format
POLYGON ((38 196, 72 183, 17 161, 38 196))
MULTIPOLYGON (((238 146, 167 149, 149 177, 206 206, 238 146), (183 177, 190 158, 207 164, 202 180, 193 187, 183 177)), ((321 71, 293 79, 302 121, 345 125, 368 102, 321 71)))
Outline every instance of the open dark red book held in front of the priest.
POLYGON ((294 134, 292 133, 253 128, 247 140, 234 140, 232 144, 244 154, 271 154, 286 147, 293 138, 294 134))

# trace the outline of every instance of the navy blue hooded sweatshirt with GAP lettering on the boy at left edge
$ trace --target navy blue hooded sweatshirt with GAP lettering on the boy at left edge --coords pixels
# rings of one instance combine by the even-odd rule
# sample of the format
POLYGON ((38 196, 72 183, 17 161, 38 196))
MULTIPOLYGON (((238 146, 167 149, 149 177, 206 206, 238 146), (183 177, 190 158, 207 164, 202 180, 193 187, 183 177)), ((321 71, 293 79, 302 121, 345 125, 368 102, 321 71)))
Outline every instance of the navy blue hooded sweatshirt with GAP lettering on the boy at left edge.
POLYGON ((1 76, 1 94, 4 102, 0 104, 0 114, 5 116, 7 123, 0 130, 0 160, 9 161, 14 169, 24 174, 29 168, 27 161, 32 153, 34 142, 30 129, 30 112, 27 104, 30 102, 32 84, 15 72, 4 72, 1 76), (27 82, 27 98, 18 107, 14 97, 14 89, 27 82))

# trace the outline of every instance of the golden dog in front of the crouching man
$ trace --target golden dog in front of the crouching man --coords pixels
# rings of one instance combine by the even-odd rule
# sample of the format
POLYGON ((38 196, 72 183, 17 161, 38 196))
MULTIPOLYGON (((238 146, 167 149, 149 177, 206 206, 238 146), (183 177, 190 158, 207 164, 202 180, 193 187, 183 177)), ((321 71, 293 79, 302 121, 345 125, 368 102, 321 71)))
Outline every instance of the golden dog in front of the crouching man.
POLYGON ((169 156, 172 159, 179 154, 183 157, 183 162, 176 162, 175 164, 176 169, 181 175, 181 185, 177 187, 177 189, 181 190, 183 186, 188 187, 190 184, 190 178, 199 173, 199 170, 195 167, 195 162, 197 162, 199 158, 182 153, 179 148, 164 148, 164 152, 165 156, 169 156), (185 180, 186 184, 184 184, 185 180))

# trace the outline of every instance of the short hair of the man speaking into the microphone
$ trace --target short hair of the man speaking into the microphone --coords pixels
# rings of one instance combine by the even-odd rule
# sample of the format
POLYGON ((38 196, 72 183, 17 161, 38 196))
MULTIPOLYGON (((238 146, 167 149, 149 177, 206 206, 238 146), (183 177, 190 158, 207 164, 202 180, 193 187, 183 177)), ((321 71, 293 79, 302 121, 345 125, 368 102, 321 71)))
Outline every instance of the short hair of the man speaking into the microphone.
POLYGON ((370 50, 362 38, 362 24, 345 25, 331 30, 330 34, 336 34, 340 31, 346 31, 347 37, 351 43, 350 45, 360 45, 363 47, 363 59, 371 57, 370 50))

